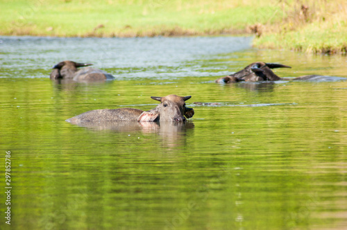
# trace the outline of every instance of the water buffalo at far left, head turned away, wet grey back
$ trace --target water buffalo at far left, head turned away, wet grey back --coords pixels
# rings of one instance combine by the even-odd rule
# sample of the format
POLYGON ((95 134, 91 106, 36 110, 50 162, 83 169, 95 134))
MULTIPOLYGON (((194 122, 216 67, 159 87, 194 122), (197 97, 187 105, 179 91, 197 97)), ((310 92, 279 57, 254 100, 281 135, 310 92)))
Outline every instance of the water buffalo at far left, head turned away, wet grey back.
POLYGON ((77 63, 72 61, 59 62, 53 67, 50 78, 51 80, 72 79, 75 81, 99 81, 115 79, 109 73, 100 69, 88 67, 92 64, 77 63), (77 69, 78 67, 85 67, 77 69))

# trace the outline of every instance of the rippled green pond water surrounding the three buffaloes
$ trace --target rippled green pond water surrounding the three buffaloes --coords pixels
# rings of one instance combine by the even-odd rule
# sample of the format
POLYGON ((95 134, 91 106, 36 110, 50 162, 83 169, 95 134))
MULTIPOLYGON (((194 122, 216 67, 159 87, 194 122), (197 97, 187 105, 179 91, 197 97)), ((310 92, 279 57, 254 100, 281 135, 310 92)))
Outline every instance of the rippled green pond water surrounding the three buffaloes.
POLYGON ((347 81, 214 80, 255 61, 291 66, 276 69, 285 78, 347 77, 347 57, 249 43, 0 37, 0 229, 346 229, 347 81), (56 84, 62 60, 116 79, 56 84), (65 121, 169 94, 192 96, 186 124, 65 121))

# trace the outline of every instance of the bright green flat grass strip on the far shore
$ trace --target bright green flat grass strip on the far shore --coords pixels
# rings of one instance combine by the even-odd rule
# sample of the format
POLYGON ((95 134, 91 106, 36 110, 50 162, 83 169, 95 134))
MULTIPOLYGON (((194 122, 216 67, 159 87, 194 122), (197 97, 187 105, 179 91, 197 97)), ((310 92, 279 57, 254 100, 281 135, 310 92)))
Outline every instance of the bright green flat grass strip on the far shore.
POLYGON ((144 1, 0 1, 2 35, 155 36, 246 33, 246 27, 268 21, 253 6, 212 0, 144 1), (14 13, 15 12, 15 13, 14 13), (103 28, 94 29, 103 25, 103 28))

